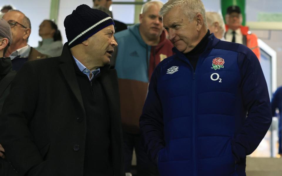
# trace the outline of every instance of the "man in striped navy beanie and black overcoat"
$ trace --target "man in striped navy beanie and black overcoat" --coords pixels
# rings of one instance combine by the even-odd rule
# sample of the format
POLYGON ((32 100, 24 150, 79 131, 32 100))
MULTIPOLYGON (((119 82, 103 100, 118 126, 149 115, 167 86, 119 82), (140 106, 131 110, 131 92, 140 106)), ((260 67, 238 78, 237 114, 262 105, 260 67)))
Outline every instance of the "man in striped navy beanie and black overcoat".
POLYGON ((65 18, 62 55, 26 62, 0 117, 0 141, 24 176, 124 176, 114 23, 80 5, 65 18))

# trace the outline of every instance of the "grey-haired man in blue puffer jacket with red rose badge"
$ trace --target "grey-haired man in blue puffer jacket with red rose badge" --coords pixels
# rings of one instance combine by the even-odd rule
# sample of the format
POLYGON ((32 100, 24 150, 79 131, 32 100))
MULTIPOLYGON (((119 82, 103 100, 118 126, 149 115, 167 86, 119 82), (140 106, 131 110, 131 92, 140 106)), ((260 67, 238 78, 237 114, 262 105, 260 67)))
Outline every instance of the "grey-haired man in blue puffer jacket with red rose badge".
POLYGON ((140 117, 148 155, 161 176, 246 175, 272 119, 259 60, 209 33, 200 0, 169 0, 160 15, 176 54, 149 84, 140 117))

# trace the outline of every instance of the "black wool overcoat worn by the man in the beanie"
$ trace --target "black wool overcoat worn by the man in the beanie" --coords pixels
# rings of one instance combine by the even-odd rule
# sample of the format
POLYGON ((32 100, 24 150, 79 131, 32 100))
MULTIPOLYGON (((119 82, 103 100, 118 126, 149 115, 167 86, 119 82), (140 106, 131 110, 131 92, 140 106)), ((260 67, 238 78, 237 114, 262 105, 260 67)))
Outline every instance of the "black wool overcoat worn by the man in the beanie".
MULTIPOLYGON (((114 175, 124 176, 117 73, 100 74, 110 114, 114 175)), ((20 176, 83 176, 85 118, 67 44, 59 57, 26 62, 0 116, 0 143, 11 167, 20 176)))

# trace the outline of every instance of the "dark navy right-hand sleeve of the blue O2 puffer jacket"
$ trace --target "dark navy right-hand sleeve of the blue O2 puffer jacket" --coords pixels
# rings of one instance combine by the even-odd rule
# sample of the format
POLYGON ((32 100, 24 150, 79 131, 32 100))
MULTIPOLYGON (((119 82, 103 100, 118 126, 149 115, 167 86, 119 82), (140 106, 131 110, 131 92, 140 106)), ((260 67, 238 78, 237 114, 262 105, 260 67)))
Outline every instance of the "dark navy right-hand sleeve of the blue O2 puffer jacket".
POLYGON ((272 121, 267 84, 256 55, 249 49, 239 53, 238 65, 242 103, 247 116, 240 133, 232 140, 232 151, 237 163, 258 147, 272 121))

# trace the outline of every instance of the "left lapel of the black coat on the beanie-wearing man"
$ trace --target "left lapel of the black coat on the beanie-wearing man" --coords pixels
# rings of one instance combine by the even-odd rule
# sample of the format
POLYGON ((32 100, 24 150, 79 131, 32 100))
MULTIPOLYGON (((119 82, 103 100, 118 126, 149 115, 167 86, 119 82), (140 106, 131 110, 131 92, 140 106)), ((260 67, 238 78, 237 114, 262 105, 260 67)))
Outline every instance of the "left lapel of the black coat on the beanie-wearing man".
POLYGON ((80 89, 78 86, 78 82, 75 75, 75 70, 73 67, 73 56, 68 49, 67 43, 65 43, 63 47, 63 52, 60 57, 60 69, 66 79, 67 84, 69 85, 71 91, 73 92, 75 98, 78 100, 81 108, 83 109, 83 113, 85 115, 85 109, 83 106, 83 101, 80 93, 80 89))

